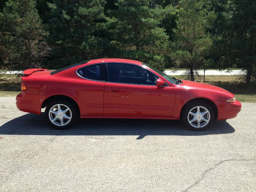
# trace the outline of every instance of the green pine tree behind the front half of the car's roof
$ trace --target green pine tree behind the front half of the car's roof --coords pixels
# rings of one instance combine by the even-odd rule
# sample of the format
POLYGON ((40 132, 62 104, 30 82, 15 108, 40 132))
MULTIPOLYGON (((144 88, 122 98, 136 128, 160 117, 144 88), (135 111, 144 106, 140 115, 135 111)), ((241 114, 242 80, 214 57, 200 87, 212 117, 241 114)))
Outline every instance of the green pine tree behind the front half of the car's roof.
POLYGON ((158 27, 163 10, 150 8, 149 3, 149 0, 120 0, 116 4, 118 9, 108 11, 112 16, 108 20, 112 54, 163 69, 168 43, 164 29, 158 27))

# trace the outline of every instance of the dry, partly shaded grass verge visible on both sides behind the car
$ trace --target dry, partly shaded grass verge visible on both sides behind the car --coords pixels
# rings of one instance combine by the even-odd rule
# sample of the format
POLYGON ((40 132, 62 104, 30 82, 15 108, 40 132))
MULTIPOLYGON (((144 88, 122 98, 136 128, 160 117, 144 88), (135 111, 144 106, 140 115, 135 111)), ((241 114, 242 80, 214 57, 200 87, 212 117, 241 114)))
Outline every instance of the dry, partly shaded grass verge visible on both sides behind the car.
MULTIPOLYGON (((176 78, 184 79, 182 76, 176 78)), ((196 81, 203 82, 203 76, 196 81)), ((0 96, 15 97, 20 93, 19 75, 2 74, 0 75, 0 96)), ((236 95, 236 99, 240 102, 256 102, 256 84, 246 86, 244 82, 239 80, 237 75, 206 75, 205 83, 212 84, 228 90, 236 95)))

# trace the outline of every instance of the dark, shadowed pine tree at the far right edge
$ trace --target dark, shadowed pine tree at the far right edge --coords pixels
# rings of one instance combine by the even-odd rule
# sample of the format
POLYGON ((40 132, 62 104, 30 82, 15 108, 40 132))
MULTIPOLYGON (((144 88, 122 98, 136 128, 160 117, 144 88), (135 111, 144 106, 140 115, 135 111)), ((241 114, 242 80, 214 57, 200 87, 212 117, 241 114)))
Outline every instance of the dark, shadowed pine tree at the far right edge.
POLYGON ((232 0, 222 25, 222 66, 242 67, 246 84, 256 79, 256 2, 232 0))

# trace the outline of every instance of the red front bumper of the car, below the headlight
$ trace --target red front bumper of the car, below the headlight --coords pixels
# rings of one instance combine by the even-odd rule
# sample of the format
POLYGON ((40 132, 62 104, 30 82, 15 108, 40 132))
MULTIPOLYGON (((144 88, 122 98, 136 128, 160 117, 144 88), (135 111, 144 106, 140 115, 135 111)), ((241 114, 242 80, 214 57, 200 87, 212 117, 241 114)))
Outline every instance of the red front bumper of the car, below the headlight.
POLYGON ((215 101, 215 104, 218 107, 218 120, 235 118, 242 108, 242 104, 239 101, 234 103, 215 101))

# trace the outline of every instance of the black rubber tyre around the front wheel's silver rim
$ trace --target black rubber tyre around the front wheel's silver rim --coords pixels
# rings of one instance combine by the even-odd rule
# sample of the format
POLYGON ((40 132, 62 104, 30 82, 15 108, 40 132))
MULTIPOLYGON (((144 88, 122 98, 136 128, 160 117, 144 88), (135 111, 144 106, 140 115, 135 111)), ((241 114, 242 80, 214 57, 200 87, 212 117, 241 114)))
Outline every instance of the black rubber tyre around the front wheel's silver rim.
MULTIPOLYGON (((196 110, 196 109, 195 109, 196 110)), ((193 118, 193 116, 191 117, 193 118)), ((210 104, 208 104, 207 102, 200 102, 200 101, 195 101, 195 102, 189 102, 188 104, 186 104, 186 106, 184 107, 184 109, 182 110, 182 114, 181 114, 181 120, 182 123, 189 128, 190 130, 193 131, 204 131, 206 130, 211 124, 212 122, 214 122, 214 110, 212 109, 212 106, 210 104), (193 108, 196 108, 197 106, 202 106, 202 108, 200 108, 200 110, 202 110, 204 112, 204 108, 206 108, 209 113, 210 116, 208 116, 208 114, 202 116, 202 117, 206 117, 205 119, 210 118, 210 120, 208 122, 202 120, 202 127, 194 127, 190 124, 190 122, 188 121, 188 118, 190 118, 190 116, 188 117, 188 114, 190 112, 190 110, 192 110, 193 108), (203 124, 206 125, 203 125, 203 124)), ((198 124, 197 120, 195 120, 194 122, 192 122, 192 124, 198 124)), ((199 123, 200 125, 200 123, 199 123)))

